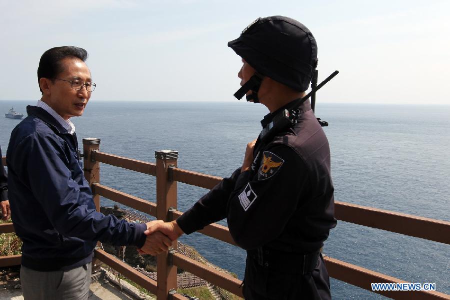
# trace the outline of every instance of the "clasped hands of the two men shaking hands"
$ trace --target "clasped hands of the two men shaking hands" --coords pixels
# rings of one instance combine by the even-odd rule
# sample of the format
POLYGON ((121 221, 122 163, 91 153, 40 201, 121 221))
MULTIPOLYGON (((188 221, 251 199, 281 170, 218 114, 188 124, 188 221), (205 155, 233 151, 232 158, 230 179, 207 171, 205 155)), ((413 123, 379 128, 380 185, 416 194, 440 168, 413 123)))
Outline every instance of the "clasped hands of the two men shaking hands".
POLYGON ((147 230, 144 231, 147 238, 140 249, 139 254, 156 255, 167 251, 172 243, 184 232, 179 228, 176 221, 163 222, 155 220, 146 223, 147 230))

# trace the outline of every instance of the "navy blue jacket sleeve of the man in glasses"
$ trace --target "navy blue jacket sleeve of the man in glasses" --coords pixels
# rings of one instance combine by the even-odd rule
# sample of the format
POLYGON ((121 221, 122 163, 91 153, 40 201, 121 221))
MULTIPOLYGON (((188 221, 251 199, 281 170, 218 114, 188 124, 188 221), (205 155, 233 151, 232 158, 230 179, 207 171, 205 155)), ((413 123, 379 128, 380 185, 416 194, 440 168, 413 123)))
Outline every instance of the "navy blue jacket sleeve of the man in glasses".
POLYGON ((14 170, 21 172, 17 174, 19 177, 27 177, 34 197, 53 227, 65 236, 141 247, 145 224, 128 223, 80 205, 87 203, 80 201, 85 193, 80 193, 78 183, 71 178, 65 153, 55 138, 37 135, 17 145, 11 162, 16 166, 14 170))

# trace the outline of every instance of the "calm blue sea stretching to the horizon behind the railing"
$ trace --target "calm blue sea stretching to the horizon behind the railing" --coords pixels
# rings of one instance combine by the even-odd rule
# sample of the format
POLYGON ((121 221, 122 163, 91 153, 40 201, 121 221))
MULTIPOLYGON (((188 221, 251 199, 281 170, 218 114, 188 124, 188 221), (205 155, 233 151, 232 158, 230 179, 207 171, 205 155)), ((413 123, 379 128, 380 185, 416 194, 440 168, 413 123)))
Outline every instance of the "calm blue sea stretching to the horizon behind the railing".
MULTIPOLYGON (((36 103, 3 100, 0 112, 13 106, 26 115, 26 105, 36 103)), ((84 115, 71 120, 80 145, 82 138, 100 138, 102 152, 148 162, 155 162, 155 151, 175 150, 179 168, 226 177, 242 164, 246 144, 259 134, 266 113, 262 105, 233 100, 91 100, 84 115)), ((329 123, 324 131, 336 201, 450 220, 450 106, 317 103, 316 116, 329 123)), ((3 155, 19 122, 0 117, 3 155)), ((153 176, 100 164, 100 182, 148 201, 156 198, 153 176)), ((207 192, 177 186, 180 211, 207 192)), ((101 205, 113 204, 101 198, 101 205)), ((180 241, 243 278, 242 249, 200 233, 180 241)), ((450 245, 338 221, 323 253, 409 282, 435 283, 436 290, 450 294, 450 245)), ((330 283, 333 299, 385 298, 334 278, 330 283)))

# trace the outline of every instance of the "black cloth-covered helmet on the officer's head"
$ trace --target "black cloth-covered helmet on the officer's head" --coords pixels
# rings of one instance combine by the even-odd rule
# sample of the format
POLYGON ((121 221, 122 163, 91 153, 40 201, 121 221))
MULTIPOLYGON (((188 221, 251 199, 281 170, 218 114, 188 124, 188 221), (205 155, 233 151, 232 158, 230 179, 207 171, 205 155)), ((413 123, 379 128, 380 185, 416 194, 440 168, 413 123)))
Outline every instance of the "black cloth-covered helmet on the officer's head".
POLYGON ((299 92, 308 89, 317 66, 317 44, 311 32, 287 17, 255 20, 228 47, 259 74, 299 92))

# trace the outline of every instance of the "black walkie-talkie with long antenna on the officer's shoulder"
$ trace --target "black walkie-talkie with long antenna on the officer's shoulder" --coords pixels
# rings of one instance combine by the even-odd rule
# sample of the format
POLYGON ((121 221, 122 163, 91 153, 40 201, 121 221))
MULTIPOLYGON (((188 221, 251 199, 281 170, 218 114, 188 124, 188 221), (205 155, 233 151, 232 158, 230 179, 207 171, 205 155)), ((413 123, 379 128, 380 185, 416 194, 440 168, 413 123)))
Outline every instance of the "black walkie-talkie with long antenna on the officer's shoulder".
MULTIPOLYGON (((297 122, 298 115, 298 107, 305 102, 309 97, 311 97, 311 109, 314 111, 315 107, 315 92, 317 92, 321 87, 323 87, 328 81, 330 81, 334 76, 336 76, 339 71, 334 71, 330 76, 328 76, 324 81, 322 81, 318 86, 317 84, 317 70, 314 71, 311 81, 311 91, 304 96, 303 98, 299 98, 297 100, 292 101, 287 109, 282 110, 277 115, 275 115, 272 119, 272 122, 267 124, 259 133, 259 139, 261 141, 271 139, 273 136, 279 132, 280 130, 290 127, 297 122)), ((321 121, 317 118, 317 121, 321 126, 328 126, 328 123, 325 121, 321 121)))

